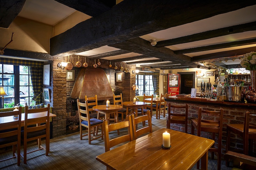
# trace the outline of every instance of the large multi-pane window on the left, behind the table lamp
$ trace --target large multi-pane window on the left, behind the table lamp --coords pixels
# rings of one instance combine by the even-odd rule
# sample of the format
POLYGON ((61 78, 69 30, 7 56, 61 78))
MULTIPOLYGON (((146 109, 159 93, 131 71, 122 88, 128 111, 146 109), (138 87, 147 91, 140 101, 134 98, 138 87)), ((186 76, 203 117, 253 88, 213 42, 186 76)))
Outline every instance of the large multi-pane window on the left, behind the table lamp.
POLYGON ((35 104, 29 66, 0 64, 0 86, 7 94, 4 96, 4 108, 18 103, 21 106, 35 104))

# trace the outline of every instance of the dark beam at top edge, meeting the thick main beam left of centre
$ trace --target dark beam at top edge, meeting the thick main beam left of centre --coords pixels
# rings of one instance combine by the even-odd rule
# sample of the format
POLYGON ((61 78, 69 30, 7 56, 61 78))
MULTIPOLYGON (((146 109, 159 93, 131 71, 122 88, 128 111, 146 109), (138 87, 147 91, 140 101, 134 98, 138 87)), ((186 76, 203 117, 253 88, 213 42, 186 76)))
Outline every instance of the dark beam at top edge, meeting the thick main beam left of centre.
POLYGON ((115 0, 54 0, 77 11, 90 16, 98 16, 110 10, 115 4, 115 0))

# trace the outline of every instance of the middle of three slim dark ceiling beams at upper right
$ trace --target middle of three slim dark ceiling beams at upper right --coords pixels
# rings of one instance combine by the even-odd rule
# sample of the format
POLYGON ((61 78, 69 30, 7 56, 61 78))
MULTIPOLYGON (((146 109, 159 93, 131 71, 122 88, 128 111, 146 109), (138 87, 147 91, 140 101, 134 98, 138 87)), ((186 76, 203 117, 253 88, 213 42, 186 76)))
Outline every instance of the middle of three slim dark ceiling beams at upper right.
POLYGON ((187 54, 187 53, 215 50, 215 49, 221 49, 221 48, 229 48, 229 47, 237 47, 237 46, 251 45, 251 44, 256 44, 256 39, 234 41, 234 42, 229 42, 229 43, 214 44, 214 45, 207 45, 207 46, 202 46, 202 47, 175 50, 174 53, 175 54, 187 54))

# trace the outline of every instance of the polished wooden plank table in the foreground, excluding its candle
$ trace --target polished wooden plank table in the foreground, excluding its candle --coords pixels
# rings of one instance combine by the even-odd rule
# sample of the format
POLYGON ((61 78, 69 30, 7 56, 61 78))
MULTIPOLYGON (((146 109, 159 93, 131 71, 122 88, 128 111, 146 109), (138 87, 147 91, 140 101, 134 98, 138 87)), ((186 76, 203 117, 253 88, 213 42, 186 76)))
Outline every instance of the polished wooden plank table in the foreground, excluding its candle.
MULTIPOLYGON (((159 129, 146 136, 107 151, 96 160, 110 169, 191 169, 201 159, 201 169, 207 169, 211 139, 159 129), (162 134, 171 134, 171 148, 162 149, 162 134)), ((217 166, 217 165, 216 165, 217 166)))

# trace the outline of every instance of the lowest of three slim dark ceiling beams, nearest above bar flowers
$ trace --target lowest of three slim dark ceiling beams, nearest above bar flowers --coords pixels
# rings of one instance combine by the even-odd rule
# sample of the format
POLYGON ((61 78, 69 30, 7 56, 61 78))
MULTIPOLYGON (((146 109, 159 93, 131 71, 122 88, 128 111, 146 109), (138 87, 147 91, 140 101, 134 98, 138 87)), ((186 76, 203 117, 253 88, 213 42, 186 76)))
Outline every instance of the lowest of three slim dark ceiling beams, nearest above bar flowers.
POLYGON ((218 59, 218 58, 223 58, 223 60, 225 60, 225 58, 244 55, 251 51, 256 51, 256 46, 249 47, 249 48, 236 49, 236 50, 223 51, 218 53, 205 54, 201 56, 194 56, 192 57, 192 61, 198 62, 198 61, 206 61, 206 60, 212 60, 212 59, 218 59))

